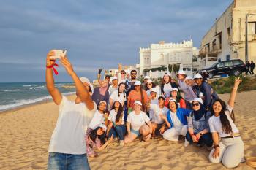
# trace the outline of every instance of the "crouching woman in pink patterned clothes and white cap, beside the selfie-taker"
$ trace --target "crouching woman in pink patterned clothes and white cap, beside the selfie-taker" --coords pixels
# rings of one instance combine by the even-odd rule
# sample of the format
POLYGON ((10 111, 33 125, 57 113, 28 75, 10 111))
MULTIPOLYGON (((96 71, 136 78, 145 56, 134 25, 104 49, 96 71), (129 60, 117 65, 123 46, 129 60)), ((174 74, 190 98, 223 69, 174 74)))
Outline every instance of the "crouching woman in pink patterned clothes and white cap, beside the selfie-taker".
POLYGON ((104 150, 105 147, 110 144, 110 142, 113 141, 113 136, 108 139, 108 141, 105 141, 105 131, 107 130, 106 125, 99 124, 97 128, 94 130, 91 128, 88 128, 86 131, 86 154, 89 157, 95 157, 97 156, 97 153, 94 152, 94 149, 97 149, 99 151, 104 150))

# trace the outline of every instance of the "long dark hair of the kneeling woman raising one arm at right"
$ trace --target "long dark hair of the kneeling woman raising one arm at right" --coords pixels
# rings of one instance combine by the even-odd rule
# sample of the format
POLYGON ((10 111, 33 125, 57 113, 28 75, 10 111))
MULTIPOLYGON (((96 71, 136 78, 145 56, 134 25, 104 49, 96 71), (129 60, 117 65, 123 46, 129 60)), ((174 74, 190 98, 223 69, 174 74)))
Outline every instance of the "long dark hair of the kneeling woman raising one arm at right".
MULTIPOLYGON (((225 132, 225 134, 232 134, 232 128, 230 125, 230 121, 227 119, 227 115, 225 114, 225 110, 226 110, 226 104, 225 101, 222 101, 222 99, 216 99, 214 101, 214 104, 216 102, 219 102, 220 105, 222 105, 222 110, 219 112, 219 119, 220 122, 222 123, 222 130, 225 132)), ((211 115, 214 115, 214 109, 211 108, 211 115)), ((235 121, 235 116, 234 116, 234 112, 230 113, 230 117, 233 121, 235 121)))

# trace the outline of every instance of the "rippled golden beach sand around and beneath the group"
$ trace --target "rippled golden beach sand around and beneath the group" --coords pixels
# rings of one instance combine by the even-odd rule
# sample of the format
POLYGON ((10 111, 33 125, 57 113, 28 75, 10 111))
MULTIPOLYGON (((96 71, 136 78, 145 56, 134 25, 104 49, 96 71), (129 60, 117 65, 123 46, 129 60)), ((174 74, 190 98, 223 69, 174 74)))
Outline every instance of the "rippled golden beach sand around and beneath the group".
MULTIPOLYGON (((219 95, 225 101, 229 94, 219 95)), ((74 98, 70 96, 69 98, 74 98)), ((256 156, 256 91, 238 93, 236 125, 245 144, 245 156, 256 156)), ((0 114, 0 169, 46 169, 48 144, 56 125, 58 107, 53 102, 36 104, 0 114)), ((208 162, 208 151, 194 144, 154 139, 124 147, 117 143, 89 158, 91 169, 225 169, 208 162)), ((236 169, 252 169, 241 163, 236 169)))

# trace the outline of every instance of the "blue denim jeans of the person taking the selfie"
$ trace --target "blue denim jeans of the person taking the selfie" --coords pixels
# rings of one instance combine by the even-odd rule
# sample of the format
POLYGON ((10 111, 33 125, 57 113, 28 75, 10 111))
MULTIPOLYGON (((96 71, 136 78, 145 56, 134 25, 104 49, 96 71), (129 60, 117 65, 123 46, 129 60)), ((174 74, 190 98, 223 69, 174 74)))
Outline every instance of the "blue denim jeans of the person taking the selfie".
POLYGON ((48 170, 90 170, 86 154, 49 152, 48 170))

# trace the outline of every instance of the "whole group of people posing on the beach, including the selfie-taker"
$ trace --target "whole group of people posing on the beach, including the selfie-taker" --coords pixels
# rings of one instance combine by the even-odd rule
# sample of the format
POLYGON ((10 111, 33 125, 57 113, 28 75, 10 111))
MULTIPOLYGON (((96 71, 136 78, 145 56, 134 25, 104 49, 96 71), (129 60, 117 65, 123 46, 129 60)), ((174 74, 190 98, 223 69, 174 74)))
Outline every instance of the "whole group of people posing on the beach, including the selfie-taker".
POLYGON ((59 117, 50 139, 48 169, 90 169, 87 156, 95 157, 111 142, 121 146, 140 138, 148 142, 156 137, 178 141, 184 147, 206 145, 209 161, 236 167, 244 158, 244 143, 234 123, 234 101, 241 80, 234 82, 225 104, 200 74, 176 74, 177 81, 165 73, 160 85, 150 77, 137 79, 136 70, 127 73, 121 67, 114 77, 101 80, 94 88, 89 79, 78 77, 66 56, 59 62, 75 83, 75 101, 69 101, 54 86, 50 51, 46 60, 46 85, 59 117), (129 75, 128 75, 129 74, 129 75), (181 96, 181 91, 184 97, 181 96))

